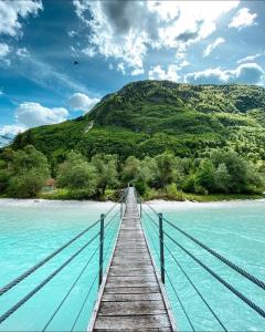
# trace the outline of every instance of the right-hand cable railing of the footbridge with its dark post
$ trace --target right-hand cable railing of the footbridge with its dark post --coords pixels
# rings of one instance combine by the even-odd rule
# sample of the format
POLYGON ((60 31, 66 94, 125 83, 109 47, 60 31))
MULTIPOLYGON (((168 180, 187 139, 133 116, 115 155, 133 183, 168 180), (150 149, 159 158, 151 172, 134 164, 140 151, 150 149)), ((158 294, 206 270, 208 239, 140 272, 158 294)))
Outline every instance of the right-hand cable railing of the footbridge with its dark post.
MULTIPOLYGON (((147 239, 149 242, 148 246, 150 247, 150 249, 152 249, 150 250, 150 252, 156 253, 157 260, 155 261, 157 261, 157 268, 160 271, 161 282, 165 283, 167 280, 168 284, 171 287, 173 294, 177 301, 179 302, 182 312, 187 321, 189 322, 190 329, 192 331, 195 331, 194 324, 192 323, 192 319, 189 315, 188 310, 183 304, 183 301, 181 300, 179 292, 177 291, 176 282, 167 268, 167 263, 168 263, 167 259, 170 260, 170 264, 171 264, 170 269, 173 269, 172 263, 176 267, 178 267, 178 270, 181 271, 183 279, 186 279, 189 282, 190 287, 194 290, 197 295, 205 304, 209 312, 212 314, 212 317, 219 324, 219 328, 221 328, 223 331, 227 331, 227 328, 225 326, 224 322, 220 319, 219 314, 216 313, 216 310, 213 309, 213 305, 210 304, 210 301, 206 300, 206 297, 203 295, 203 293, 200 291, 200 286, 197 284, 194 281, 192 281, 192 277, 189 276, 188 268, 184 267, 177 258, 177 256, 172 252, 172 247, 180 249, 180 251, 182 251, 182 253, 189 257, 190 260, 193 261, 199 268, 201 268, 203 271, 209 273, 215 281, 218 281, 226 290, 233 293, 244 304, 246 304, 248 308, 254 310, 254 312, 257 315, 259 315, 259 318, 265 319, 265 310, 262 308, 264 305, 259 305, 254 301, 252 301, 242 291, 236 289, 227 280, 225 280, 223 277, 216 273, 212 267, 209 267, 200 258, 193 255, 189 248, 181 245, 181 242, 178 240, 178 237, 176 237, 176 232, 182 235, 192 243, 199 246, 201 249, 204 250, 204 252, 210 253, 210 256, 215 258, 218 261, 224 263, 226 267, 229 267, 230 269, 239 273, 240 277, 243 277, 245 280, 248 280, 252 284, 257 287, 262 292, 265 291, 265 282, 263 280, 247 272, 245 269, 241 268, 235 262, 225 258, 223 255, 213 250, 212 248, 210 248, 209 246, 206 246, 205 243, 203 243, 202 241, 193 237, 191 234, 181 229, 174 222, 166 218, 162 214, 159 214, 157 210, 155 210, 150 204, 144 201, 140 195, 137 193, 137 190, 135 191, 137 195, 138 214, 139 216, 142 217, 141 218, 142 228, 147 235, 147 239), (167 229, 165 229, 166 228, 165 226, 167 226, 167 229), (167 255, 165 252, 167 252, 167 255)), ((265 299, 265 292, 264 292, 264 299, 265 299)))

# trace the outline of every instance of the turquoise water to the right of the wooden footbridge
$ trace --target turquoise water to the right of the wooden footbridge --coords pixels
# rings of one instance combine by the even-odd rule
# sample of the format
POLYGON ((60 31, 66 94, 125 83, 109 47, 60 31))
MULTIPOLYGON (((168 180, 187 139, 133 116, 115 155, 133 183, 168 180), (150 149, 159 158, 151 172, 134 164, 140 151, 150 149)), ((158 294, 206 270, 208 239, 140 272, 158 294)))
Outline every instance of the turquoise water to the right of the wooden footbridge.
MULTIPOLYGON (((152 203, 151 206, 157 211, 163 212, 168 220, 181 229, 255 277, 264 280, 265 200, 211 204, 152 203)), ((150 212, 147 207, 145 207, 145 210, 150 212)), ((158 217, 152 212, 150 215, 157 221, 158 217)), ((146 215, 144 225, 148 230, 151 230, 152 242, 159 248, 155 228, 151 227, 151 222, 146 215)), ((205 252, 167 222, 163 222, 163 227, 180 245, 265 310, 265 291, 205 252)), ((149 241, 152 245, 150 239, 149 241)), ((173 252, 178 262, 229 331, 265 331, 265 320, 253 309, 220 284, 167 237, 165 237, 165 243, 173 252)), ((195 331, 222 331, 222 326, 200 299, 177 263, 173 262, 168 250, 165 250, 166 269, 183 307, 181 308, 170 281, 166 278, 166 288, 177 318, 178 328, 181 331, 190 331, 192 324, 195 331)), ((152 251, 155 252, 153 247, 152 251)))

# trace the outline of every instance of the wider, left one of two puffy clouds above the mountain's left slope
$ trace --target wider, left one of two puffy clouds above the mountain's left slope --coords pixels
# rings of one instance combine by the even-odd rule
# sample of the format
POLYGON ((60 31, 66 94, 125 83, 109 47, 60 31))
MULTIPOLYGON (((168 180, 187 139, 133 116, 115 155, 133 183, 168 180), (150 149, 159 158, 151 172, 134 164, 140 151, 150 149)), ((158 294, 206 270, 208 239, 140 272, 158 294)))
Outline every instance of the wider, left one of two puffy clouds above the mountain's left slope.
POLYGON ((18 124, 28 128, 63 122, 67 115, 67 110, 63 107, 49 108, 31 102, 22 103, 15 108, 18 124))

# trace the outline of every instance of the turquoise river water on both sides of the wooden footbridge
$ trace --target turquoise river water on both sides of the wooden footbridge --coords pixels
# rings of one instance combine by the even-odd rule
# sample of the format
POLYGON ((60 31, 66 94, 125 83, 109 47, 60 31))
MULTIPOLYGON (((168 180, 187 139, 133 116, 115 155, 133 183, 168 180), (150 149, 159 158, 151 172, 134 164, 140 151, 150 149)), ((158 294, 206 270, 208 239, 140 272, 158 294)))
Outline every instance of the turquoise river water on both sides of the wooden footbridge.
MULTIPOLYGON (((112 203, 89 201, 0 200, 0 288, 92 225, 102 212, 106 212, 113 206, 112 203)), ((264 200, 213 204, 153 201, 151 206, 183 230, 264 280, 264 200)), ((157 221, 157 216, 147 206, 144 210, 157 221)), ((106 218, 106 222, 113 220, 108 226, 105 241, 106 263, 118 230, 118 216, 119 207, 117 206, 106 218)), ((151 251, 156 257, 153 245, 156 248, 159 247, 157 230, 146 214, 144 214, 142 222, 151 251)), ((163 227, 179 243, 265 310, 265 291, 218 261, 166 222, 163 227)), ((0 298, 0 315, 41 283, 98 230, 99 225, 3 294, 0 298)), ((265 320, 255 311, 214 280, 169 239, 165 238, 165 243, 229 331, 265 331, 265 320)), ((42 331, 89 257, 96 252, 97 246, 98 239, 0 324, 0 331, 42 331)), ((178 329, 191 331, 192 324, 195 331, 222 331, 167 250, 165 253, 168 276, 182 303, 181 307, 167 277, 166 289, 178 329)), ((97 272, 98 252, 51 320, 46 331, 86 330, 97 294, 97 272)))

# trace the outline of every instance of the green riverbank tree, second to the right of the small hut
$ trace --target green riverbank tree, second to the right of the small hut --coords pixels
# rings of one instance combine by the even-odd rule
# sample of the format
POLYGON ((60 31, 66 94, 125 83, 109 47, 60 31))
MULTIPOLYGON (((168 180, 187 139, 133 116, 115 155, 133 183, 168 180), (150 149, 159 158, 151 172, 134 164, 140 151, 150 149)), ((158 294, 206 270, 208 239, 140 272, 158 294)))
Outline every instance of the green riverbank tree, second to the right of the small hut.
POLYGON ((96 169, 97 189, 105 195, 108 186, 118 185, 117 157, 114 155, 97 154, 92 157, 92 165, 96 169))

